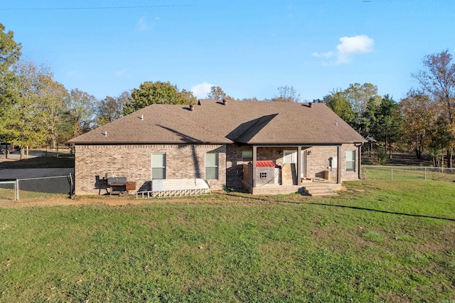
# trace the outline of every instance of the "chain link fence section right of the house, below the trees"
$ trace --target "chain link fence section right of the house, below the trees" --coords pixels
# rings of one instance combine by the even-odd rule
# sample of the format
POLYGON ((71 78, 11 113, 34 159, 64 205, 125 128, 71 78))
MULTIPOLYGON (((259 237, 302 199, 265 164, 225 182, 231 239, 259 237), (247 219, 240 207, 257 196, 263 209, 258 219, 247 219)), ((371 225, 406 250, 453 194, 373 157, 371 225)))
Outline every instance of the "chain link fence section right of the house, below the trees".
POLYGON ((363 179, 378 180, 436 180, 455 182, 455 169, 421 166, 362 166, 363 179))

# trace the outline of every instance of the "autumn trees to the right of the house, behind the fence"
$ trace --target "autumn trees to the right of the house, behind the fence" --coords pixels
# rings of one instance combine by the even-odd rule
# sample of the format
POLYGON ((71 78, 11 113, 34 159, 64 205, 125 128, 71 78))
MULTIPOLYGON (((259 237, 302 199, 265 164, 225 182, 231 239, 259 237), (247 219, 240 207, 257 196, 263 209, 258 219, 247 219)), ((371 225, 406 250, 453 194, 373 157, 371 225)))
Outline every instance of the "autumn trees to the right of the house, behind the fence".
POLYGON ((422 70, 412 73, 417 87, 399 102, 378 95, 373 84, 351 84, 322 100, 368 139, 364 151, 375 147, 380 161, 392 149, 427 153, 434 166, 452 167, 455 148, 455 63, 449 50, 424 56, 422 70))

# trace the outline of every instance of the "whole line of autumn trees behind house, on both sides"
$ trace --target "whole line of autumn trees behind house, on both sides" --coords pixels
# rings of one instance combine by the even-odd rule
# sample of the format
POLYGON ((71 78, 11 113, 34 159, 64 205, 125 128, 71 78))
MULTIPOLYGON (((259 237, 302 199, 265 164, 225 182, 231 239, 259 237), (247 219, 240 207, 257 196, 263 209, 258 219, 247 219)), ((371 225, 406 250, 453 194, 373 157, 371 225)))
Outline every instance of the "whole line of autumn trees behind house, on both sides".
MULTIPOLYGON (((434 166, 452 166, 455 147, 455 64, 448 50, 427 55, 422 70, 407 96, 396 102, 390 95, 378 95, 371 83, 350 84, 322 99, 368 143, 363 151, 380 161, 392 150, 428 153, 434 166)), ((235 100, 221 87, 213 86, 208 99, 235 100)), ((270 99, 242 100, 300 102, 292 86, 278 87, 270 99)), ((21 147, 58 147, 69 139, 107 124, 148 105, 197 102, 191 91, 179 90, 169 82, 141 83, 130 92, 102 100, 77 88, 67 90, 55 81, 45 65, 21 59, 21 43, 0 23, 0 139, 21 147)))

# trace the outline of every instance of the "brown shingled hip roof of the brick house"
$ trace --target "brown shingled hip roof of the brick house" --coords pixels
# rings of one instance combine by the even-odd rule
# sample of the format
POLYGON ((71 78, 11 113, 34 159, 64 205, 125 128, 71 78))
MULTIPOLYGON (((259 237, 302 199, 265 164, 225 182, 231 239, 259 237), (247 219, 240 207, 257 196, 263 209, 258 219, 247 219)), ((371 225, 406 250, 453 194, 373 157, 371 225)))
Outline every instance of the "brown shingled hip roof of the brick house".
POLYGON ((150 105, 70 140, 72 144, 343 144, 365 142, 326 105, 200 100, 150 105))

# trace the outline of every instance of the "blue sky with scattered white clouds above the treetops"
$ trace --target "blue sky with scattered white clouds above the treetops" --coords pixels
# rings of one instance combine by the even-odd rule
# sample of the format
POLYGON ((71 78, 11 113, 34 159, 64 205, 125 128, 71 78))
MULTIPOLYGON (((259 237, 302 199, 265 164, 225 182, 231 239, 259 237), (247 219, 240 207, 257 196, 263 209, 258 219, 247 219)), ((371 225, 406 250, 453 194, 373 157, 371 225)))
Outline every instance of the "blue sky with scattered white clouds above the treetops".
POLYGON ((2 2, 23 58, 100 99, 160 80, 240 99, 292 85, 302 101, 373 83, 399 101, 424 55, 455 55, 453 0, 2 2))

